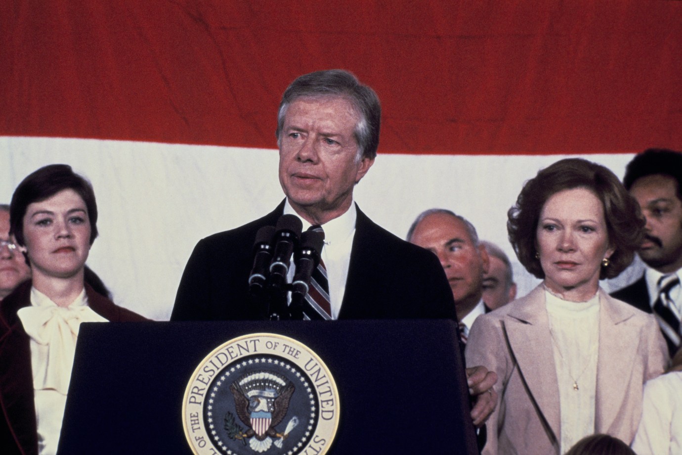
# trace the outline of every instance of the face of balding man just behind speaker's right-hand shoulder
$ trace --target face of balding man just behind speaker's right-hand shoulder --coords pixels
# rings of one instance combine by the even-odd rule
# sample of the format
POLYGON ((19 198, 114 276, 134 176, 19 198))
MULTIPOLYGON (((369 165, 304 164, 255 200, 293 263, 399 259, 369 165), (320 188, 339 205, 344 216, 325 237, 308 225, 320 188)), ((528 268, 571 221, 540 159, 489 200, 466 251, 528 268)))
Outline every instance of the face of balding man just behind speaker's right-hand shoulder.
POLYGON ((483 275, 488 271, 488 252, 473 243, 466 224, 449 214, 431 214, 421 220, 412 243, 433 252, 441 260, 452 289, 460 319, 481 299, 483 275))

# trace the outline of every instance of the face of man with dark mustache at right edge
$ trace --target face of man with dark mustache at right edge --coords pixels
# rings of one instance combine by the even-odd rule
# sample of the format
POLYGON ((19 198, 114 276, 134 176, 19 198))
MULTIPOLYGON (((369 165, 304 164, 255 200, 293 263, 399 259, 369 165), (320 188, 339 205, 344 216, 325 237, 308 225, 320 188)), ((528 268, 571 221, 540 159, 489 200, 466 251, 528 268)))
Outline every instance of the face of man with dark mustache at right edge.
POLYGON ((639 255, 650 267, 663 273, 682 267, 682 201, 677 182, 667 175, 637 179, 630 194, 637 199, 647 218, 647 237, 639 255))

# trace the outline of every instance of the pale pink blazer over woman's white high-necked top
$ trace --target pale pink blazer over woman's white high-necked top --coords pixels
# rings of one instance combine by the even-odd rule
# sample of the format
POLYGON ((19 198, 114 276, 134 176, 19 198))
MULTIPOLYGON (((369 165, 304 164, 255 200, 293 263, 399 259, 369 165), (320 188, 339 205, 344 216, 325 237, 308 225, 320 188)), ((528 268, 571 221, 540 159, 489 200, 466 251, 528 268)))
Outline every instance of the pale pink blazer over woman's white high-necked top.
MULTIPOLYGON (((476 319, 466 364, 483 365, 498 377, 499 398, 482 454, 560 455, 559 385, 542 284, 476 319)), ((667 364, 653 316, 599 289, 595 432, 631 443, 642 415, 643 385, 667 364)))

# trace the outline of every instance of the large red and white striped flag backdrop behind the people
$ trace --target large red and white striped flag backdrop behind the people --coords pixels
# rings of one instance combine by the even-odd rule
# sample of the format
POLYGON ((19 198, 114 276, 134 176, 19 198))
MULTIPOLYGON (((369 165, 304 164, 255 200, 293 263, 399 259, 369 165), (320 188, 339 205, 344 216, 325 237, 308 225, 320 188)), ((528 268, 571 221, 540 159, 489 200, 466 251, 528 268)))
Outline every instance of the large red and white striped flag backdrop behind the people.
POLYGON ((579 154, 622 176, 632 153, 682 149, 681 44, 664 0, 7 0, 0 201, 72 164, 100 207, 89 264, 166 319, 196 241, 282 199, 282 91, 344 68, 383 106, 360 207, 400 237, 446 207, 513 256, 506 211, 539 168, 579 154))

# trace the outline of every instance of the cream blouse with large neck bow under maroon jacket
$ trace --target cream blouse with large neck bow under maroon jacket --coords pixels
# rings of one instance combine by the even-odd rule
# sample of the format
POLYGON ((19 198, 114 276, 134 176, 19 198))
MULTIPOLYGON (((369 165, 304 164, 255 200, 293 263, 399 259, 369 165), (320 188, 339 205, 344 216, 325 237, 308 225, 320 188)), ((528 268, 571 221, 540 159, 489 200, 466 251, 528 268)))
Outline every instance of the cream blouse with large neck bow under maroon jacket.
POLYGON ((80 323, 106 319, 87 306, 85 289, 68 307, 62 307, 31 288, 31 306, 20 308, 17 316, 31 338, 38 454, 53 455, 57 453, 80 323))

